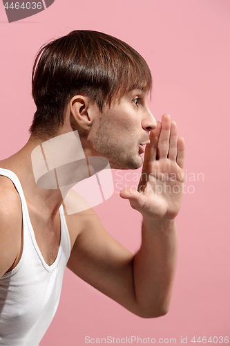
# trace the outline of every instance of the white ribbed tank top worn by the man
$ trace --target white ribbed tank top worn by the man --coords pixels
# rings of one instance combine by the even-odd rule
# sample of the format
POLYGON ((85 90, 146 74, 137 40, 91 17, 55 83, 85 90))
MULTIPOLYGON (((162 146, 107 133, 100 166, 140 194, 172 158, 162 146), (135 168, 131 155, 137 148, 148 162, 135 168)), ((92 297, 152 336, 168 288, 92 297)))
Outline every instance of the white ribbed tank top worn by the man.
POLYGON ((70 256, 70 237, 63 206, 61 242, 55 262, 48 266, 41 255, 32 229, 26 199, 15 173, 0 168, 21 198, 23 253, 19 264, 0 278, 0 345, 37 346, 46 333, 59 303, 61 284, 70 256))

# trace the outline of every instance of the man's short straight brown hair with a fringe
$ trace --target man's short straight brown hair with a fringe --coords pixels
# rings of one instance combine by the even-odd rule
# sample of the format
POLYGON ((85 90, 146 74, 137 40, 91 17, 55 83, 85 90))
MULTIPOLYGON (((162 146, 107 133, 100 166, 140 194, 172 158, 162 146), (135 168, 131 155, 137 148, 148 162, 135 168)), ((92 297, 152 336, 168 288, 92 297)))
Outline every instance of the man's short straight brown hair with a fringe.
POLYGON ((144 58, 120 39, 91 30, 75 30, 43 46, 32 70, 37 111, 30 134, 55 136, 64 125, 74 95, 87 96, 102 112, 104 105, 133 89, 151 91, 151 71, 144 58))

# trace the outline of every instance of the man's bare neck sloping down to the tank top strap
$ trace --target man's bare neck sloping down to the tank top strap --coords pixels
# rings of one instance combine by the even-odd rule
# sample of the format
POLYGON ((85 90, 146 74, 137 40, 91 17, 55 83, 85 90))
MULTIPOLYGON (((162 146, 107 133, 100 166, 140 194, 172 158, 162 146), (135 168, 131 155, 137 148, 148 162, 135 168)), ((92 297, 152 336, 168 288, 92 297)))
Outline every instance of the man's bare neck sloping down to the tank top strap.
POLYGON ((31 136, 19 152, 0 161, 0 167, 17 174, 30 206, 56 215, 73 185, 107 165, 105 158, 95 161, 86 154, 92 156, 77 131, 59 132, 46 142, 31 136))

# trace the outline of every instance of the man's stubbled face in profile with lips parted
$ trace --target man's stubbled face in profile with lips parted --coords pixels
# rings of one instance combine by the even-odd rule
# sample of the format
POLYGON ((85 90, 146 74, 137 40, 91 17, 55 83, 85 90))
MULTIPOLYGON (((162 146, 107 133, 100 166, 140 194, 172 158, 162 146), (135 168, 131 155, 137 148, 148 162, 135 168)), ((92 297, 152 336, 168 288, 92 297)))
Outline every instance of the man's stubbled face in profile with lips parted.
MULTIPOLYGON (((97 111, 97 121, 88 136, 99 156, 108 159, 111 168, 135 170, 141 167, 144 145, 149 142, 149 131, 157 123, 146 103, 147 93, 134 89, 121 100, 97 111)), ((95 104, 95 108, 97 105, 95 104)))

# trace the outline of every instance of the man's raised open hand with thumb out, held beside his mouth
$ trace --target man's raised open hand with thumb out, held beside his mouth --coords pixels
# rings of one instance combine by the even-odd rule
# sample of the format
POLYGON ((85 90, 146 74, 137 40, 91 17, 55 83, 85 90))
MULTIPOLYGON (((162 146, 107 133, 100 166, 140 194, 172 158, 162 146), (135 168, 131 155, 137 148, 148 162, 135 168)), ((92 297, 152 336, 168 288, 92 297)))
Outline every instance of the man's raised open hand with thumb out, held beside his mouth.
POLYGON ((169 114, 150 133, 137 191, 122 190, 132 208, 152 219, 174 219, 180 210, 184 185, 184 138, 169 114))

